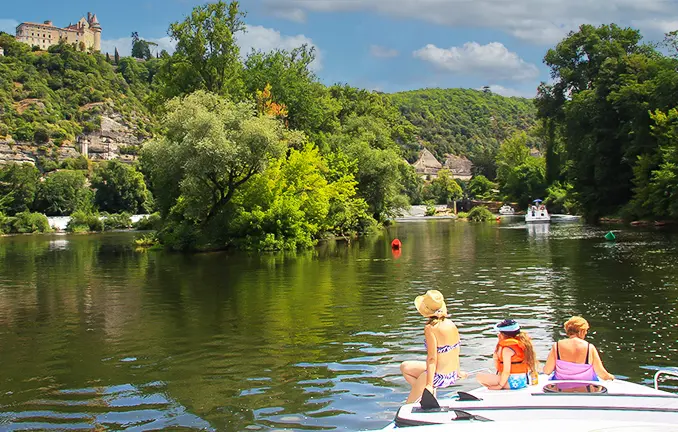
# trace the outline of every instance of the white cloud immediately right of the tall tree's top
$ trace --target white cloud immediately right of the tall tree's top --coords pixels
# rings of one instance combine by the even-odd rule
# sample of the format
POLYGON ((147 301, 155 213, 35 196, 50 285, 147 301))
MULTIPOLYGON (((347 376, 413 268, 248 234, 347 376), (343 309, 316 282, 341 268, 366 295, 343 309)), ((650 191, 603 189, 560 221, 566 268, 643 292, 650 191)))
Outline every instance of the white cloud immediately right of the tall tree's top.
POLYGON ((278 30, 270 29, 262 26, 247 26, 247 32, 239 34, 237 37, 238 46, 243 56, 247 55, 253 49, 256 51, 273 51, 275 49, 292 50, 299 48, 302 45, 315 47, 316 58, 311 63, 311 69, 318 71, 322 69, 322 58, 318 47, 315 46, 313 40, 304 36, 303 34, 295 36, 286 36, 281 34, 278 30))

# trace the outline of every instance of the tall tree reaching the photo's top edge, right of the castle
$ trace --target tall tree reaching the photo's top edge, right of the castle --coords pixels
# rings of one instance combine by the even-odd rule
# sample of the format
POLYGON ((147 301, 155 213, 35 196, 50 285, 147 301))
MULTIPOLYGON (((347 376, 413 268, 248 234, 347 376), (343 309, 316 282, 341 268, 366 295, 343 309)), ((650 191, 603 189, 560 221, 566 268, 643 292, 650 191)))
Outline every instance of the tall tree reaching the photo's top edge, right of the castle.
POLYGON ((197 6, 183 22, 170 25, 176 50, 162 74, 169 94, 198 89, 219 95, 241 93, 242 64, 235 37, 245 30, 243 18, 237 1, 220 0, 197 6))

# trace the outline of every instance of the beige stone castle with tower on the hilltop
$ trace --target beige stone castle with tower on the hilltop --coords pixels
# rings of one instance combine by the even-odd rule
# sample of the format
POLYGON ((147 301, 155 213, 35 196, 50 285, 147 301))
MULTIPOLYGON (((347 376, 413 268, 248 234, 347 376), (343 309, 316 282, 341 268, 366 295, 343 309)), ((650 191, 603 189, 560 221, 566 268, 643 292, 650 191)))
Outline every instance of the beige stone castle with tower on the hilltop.
POLYGON ((42 24, 25 22, 17 26, 16 40, 42 50, 64 41, 75 44, 80 49, 84 48, 83 51, 101 51, 101 24, 97 16, 90 12, 87 12, 87 18, 82 17, 65 28, 55 27, 49 20, 42 24))

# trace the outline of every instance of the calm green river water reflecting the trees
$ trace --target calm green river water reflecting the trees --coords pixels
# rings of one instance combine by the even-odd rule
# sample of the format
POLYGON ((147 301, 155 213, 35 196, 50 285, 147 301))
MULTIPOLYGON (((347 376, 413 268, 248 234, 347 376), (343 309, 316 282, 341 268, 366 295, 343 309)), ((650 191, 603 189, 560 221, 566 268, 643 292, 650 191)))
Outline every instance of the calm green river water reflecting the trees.
POLYGON ((0 429, 381 428, 408 392, 400 362, 424 358, 412 301, 432 288, 466 370, 491 366, 504 317, 544 360, 572 314, 618 377, 648 384, 677 365, 678 235, 607 242, 516 220, 400 223, 297 254, 138 251, 127 233, 2 238, 0 429))

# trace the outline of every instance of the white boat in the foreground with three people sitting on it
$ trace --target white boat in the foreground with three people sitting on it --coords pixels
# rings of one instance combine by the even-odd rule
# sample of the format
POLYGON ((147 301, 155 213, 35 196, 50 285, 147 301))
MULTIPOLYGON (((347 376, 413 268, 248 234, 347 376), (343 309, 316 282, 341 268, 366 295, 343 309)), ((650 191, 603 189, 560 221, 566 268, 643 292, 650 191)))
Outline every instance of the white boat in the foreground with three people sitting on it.
POLYGON ((659 371, 651 388, 623 380, 550 381, 540 375, 539 384, 521 390, 481 387, 437 401, 424 398, 403 405, 382 430, 678 432, 678 395, 658 389, 661 374, 678 377, 659 371))

